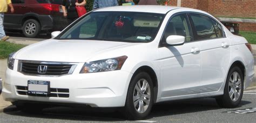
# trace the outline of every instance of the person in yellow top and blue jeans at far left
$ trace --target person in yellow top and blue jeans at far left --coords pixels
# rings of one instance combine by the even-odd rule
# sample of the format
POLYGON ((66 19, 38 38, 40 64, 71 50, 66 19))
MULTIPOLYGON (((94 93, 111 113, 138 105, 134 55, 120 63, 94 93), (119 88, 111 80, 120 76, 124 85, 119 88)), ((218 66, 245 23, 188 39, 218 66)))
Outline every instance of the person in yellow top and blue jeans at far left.
POLYGON ((11 13, 14 13, 14 6, 11 4, 11 0, 0 0, 0 39, 5 41, 9 39, 9 36, 4 32, 4 12, 8 11, 8 6, 11 8, 11 13))

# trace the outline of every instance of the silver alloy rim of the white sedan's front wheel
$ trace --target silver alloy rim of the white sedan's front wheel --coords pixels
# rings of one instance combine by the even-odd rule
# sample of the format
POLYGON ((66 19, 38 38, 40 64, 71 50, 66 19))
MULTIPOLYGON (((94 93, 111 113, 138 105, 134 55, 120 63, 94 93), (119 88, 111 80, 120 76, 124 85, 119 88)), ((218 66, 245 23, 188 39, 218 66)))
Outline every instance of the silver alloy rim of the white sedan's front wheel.
POLYGON ((144 113, 150 104, 150 84, 145 79, 138 80, 133 91, 133 104, 138 113, 144 113))

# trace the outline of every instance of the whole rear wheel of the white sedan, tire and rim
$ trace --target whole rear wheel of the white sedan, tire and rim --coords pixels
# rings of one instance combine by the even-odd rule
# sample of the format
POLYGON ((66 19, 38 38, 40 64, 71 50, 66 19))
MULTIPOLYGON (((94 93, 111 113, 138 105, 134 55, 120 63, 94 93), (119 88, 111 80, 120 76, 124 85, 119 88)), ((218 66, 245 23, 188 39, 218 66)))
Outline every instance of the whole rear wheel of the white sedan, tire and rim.
POLYGON ((224 94, 216 98, 219 106, 225 108, 237 107, 244 92, 244 76, 238 66, 233 67, 228 72, 224 94))

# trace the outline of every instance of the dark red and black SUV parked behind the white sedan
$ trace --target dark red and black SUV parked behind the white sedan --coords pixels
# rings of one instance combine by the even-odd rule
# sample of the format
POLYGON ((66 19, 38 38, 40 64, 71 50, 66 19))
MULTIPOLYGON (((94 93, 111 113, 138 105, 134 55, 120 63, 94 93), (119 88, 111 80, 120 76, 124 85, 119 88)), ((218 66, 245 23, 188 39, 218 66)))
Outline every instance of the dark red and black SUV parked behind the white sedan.
POLYGON ((5 30, 22 30, 26 37, 35 37, 41 31, 64 29, 68 23, 63 17, 62 0, 11 0, 15 12, 4 15, 5 30))

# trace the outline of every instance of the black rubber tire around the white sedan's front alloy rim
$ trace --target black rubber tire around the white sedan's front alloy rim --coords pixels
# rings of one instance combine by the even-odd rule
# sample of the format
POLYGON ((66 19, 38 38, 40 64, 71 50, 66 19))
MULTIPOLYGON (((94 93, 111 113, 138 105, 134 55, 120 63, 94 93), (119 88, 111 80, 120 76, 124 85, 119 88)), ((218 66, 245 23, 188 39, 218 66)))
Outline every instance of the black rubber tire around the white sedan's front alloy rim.
MULTIPOLYGON (((140 82, 140 83, 142 83, 142 82, 140 82)), ((148 91, 149 90, 144 91, 144 93, 148 94, 148 91)), ((126 102, 125 102, 125 107, 124 107, 125 108, 125 111, 124 111, 125 117, 130 120, 140 120, 140 119, 146 118, 147 115, 150 114, 152 106, 153 106, 153 97, 154 97, 153 94, 154 94, 153 84, 152 84, 152 79, 149 76, 149 74, 147 74, 146 72, 139 72, 138 74, 136 74, 131 79, 131 82, 130 82, 130 85, 129 85, 129 88, 127 91, 127 97, 126 97, 126 102), (150 88, 149 105, 147 106, 145 112, 143 112, 143 113, 139 113, 136 110, 136 106, 134 106, 134 103, 133 103, 134 88, 139 80, 146 80, 149 85, 149 88, 150 88)), ((137 93, 137 95, 139 95, 139 94, 137 93)), ((143 101, 143 105, 146 105, 146 103, 145 104, 144 103, 145 103, 145 101, 143 101)))

